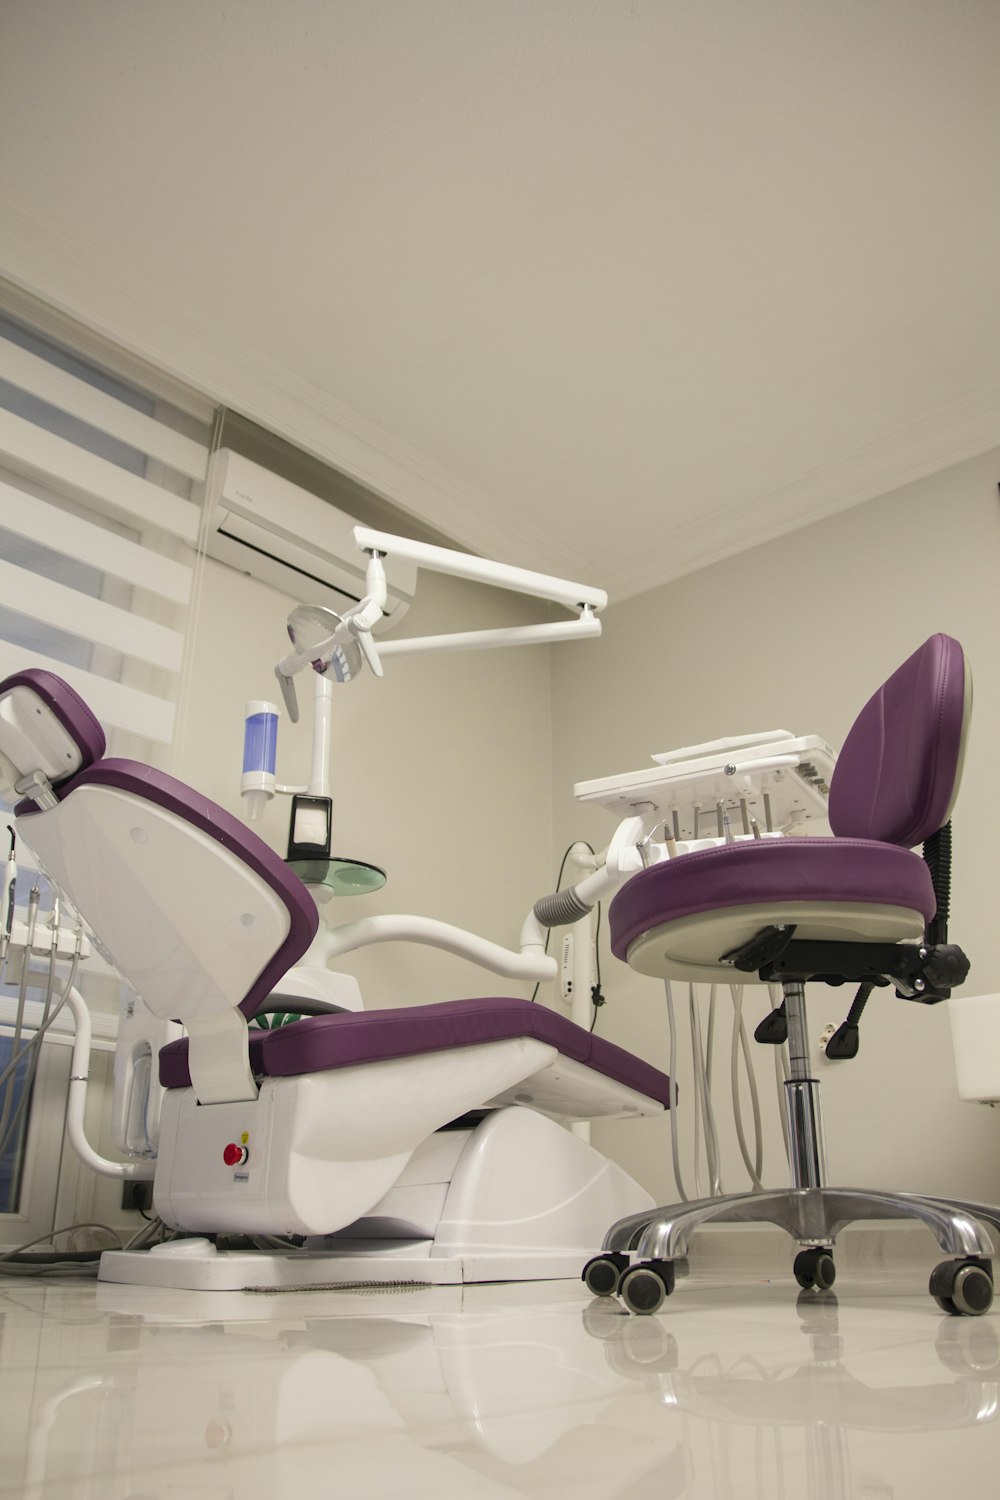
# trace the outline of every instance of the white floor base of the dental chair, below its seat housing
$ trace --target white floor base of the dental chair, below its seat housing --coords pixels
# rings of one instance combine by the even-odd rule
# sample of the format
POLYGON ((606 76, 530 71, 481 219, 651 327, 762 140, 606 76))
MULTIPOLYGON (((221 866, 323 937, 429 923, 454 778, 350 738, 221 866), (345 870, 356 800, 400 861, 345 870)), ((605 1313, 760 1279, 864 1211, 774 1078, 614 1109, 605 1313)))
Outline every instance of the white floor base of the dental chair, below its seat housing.
MULTIPOLYGON (((336 1166, 327 1174, 336 1184, 336 1166)), ((288 1251, 219 1250, 204 1236, 109 1251, 100 1280, 187 1290, 576 1280, 609 1218, 652 1208, 637 1182, 565 1126, 508 1107, 430 1136, 337 1234, 288 1251)))

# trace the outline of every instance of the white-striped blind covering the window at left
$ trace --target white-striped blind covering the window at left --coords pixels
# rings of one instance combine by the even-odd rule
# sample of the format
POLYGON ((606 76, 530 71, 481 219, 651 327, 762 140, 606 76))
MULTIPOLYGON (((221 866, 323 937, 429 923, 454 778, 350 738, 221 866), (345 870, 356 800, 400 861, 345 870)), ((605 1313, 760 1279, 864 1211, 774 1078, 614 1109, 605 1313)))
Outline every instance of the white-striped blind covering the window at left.
POLYGON ((0 312, 0 675, 58 672, 112 754, 174 735, 210 432, 0 312))

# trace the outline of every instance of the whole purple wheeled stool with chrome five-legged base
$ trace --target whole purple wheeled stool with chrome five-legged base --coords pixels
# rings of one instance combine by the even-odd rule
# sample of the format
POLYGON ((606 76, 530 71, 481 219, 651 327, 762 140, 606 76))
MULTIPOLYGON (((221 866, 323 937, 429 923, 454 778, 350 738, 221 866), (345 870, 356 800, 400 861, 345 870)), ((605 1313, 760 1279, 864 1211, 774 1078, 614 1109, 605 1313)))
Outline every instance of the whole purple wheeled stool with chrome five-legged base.
MULTIPOLYGON (((969 962, 948 944, 949 818, 972 706, 960 644, 931 636, 861 711, 829 789, 834 837, 748 838, 679 855, 634 874, 609 910, 612 951, 640 974, 705 982, 780 982, 781 1006, 757 1040, 789 1044, 786 1083, 792 1188, 660 1208, 625 1216, 583 1278, 654 1312, 675 1284, 675 1262, 712 1222, 772 1222, 802 1246, 801 1287, 834 1284, 832 1246, 859 1220, 922 1221, 951 1260, 931 1275, 939 1305, 985 1312, 1000 1209, 825 1184, 819 1083, 811 1077, 807 981, 861 988, 841 1056, 856 1050, 856 1018, 876 987, 933 1005, 961 984, 969 962), (913 852, 924 844, 924 856, 913 852), (852 1035, 853 1032, 853 1035, 852 1035)), ((832 1053, 831 1053, 832 1054, 832 1053)))

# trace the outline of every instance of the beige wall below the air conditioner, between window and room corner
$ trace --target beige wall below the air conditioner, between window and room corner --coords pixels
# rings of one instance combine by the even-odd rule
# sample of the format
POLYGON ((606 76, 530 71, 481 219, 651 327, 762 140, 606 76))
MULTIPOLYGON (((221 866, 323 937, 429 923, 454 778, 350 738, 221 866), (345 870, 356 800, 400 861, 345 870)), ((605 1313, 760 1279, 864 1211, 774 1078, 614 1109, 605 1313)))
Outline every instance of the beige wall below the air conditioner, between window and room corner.
MULTIPOLYGON (((391 568, 391 564, 390 564, 391 568)), ((243 816, 243 705, 277 696, 292 602, 217 562, 207 564, 196 622, 190 702, 175 774, 243 816)), ((394 634, 522 624, 529 600, 420 573, 417 600, 394 634)), ((586 650, 583 646, 582 650, 586 650)), ((282 714, 277 778, 304 783, 312 748, 312 674, 297 680, 301 718, 282 714)), ((385 676, 364 672, 334 690, 334 849, 388 872, 375 896, 327 906, 334 924, 415 912, 517 946, 534 897, 552 879, 550 684, 546 646, 405 657, 385 676)), ((256 825, 285 854, 288 798, 256 825)), ((345 958, 367 1006, 462 994, 528 994, 465 960, 414 945, 345 958)))

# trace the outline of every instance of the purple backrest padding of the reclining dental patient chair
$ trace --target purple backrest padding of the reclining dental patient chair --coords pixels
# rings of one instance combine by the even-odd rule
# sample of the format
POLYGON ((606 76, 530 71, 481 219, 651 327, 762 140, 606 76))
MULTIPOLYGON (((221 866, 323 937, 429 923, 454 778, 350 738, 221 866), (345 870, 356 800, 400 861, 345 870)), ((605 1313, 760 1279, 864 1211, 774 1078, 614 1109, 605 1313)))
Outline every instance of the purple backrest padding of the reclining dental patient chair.
MULTIPOLYGON (((303 882, 238 818, 226 813, 223 807, 219 807, 208 796, 192 790, 190 786, 175 780, 172 776, 166 776, 165 771, 157 771, 151 765, 144 765, 139 760, 99 760, 87 771, 75 776, 72 782, 67 782, 61 789, 61 795, 67 796, 82 786, 114 786, 118 790, 130 792, 133 796, 141 796, 144 801, 165 808, 175 818, 181 818, 192 828, 208 834, 210 838, 214 838, 216 843, 220 843, 234 854, 270 885, 274 894, 283 902, 289 921, 288 934, 271 960, 261 969, 252 988, 240 1004, 244 1016, 253 1016, 258 1005, 267 999, 280 976, 301 958, 316 934, 319 924, 316 906, 303 882)), ((18 816, 24 816, 27 826, 36 812, 34 804, 28 804, 24 813, 18 808, 18 816)), ((27 837, 30 840, 30 834, 27 837)), ((82 915, 85 916, 87 914, 84 912, 82 915)))

